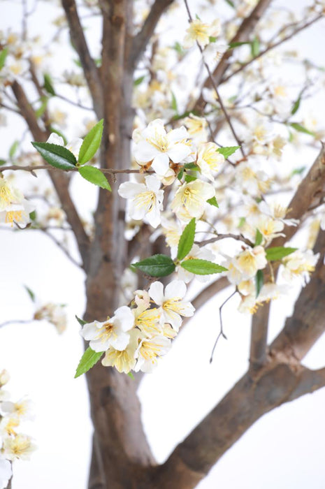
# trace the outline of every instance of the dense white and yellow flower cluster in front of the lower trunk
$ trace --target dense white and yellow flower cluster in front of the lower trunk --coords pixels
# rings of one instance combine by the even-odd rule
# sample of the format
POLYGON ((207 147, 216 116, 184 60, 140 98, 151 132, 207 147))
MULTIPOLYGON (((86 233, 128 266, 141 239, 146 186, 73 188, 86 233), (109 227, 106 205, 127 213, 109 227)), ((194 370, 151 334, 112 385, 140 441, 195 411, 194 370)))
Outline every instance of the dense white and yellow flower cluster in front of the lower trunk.
POLYGON ((152 372, 159 357, 171 347, 182 317, 193 316, 194 307, 183 300, 185 283, 166 286, 153 282, 148 291, 136 291, 131 307, 116 309, 106 321, 86 323, 80 334, 93 351, 105 352, 101 363, 119 372, 152 372))

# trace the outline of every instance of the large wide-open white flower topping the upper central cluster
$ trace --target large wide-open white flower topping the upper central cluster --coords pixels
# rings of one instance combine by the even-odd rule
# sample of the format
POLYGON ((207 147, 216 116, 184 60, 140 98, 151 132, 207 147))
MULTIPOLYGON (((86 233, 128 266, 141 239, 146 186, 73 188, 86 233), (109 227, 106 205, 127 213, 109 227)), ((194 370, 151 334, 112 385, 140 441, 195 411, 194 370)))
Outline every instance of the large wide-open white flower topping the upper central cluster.
POLYGON ((192 152, 192 145, 187 142, 189 135, 185 126, 166 132, 161 119, 155 119, 136 137, 134 158, 140 165, 151 162, 157 175, 168 176, 171 173, 169 161, 182 163, 192 152))

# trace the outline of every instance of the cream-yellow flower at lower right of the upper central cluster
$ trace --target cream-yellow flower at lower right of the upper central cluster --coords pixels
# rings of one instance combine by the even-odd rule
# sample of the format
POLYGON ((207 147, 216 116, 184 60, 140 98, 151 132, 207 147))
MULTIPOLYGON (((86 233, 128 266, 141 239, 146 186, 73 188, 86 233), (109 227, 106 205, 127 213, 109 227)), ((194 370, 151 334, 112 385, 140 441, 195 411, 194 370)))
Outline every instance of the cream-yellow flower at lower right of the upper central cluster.
POLYGON ((194 180, 182 184, 171 203, 175 214, 186 210, 190 217, 200 218, 205 210, 205 203, 209 198, 215 197, 215 189, 211 184, 194 180))

